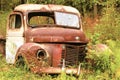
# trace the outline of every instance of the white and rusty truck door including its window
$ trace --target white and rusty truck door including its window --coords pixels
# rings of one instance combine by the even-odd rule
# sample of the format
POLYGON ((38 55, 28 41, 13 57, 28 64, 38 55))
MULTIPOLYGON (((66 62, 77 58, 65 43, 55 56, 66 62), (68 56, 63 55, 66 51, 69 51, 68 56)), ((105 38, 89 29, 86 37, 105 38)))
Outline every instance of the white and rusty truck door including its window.
POLYGON ((9 16, 6 33, 6 62, 13 64, 18 48, 24 43, 22 14, 14 12, 9 16))

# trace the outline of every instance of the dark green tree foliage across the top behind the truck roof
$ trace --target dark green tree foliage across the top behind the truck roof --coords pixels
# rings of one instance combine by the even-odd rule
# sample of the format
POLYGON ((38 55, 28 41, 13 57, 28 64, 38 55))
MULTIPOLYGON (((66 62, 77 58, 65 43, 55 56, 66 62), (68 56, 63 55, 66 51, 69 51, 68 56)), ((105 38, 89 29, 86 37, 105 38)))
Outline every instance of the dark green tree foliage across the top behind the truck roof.
MULTIPOLYGON (((112 0, 108 0, 112 2, 112 0)), ((99 15, 107 4, 107 0, 0 0, 0 10, 10 10, 19 4, 36 3, 36 4, 61 4, 76 7, 83 16, 91 14, 92 16, 99 15)), ((120 1, 115 0, 116 8, 120 1)))

